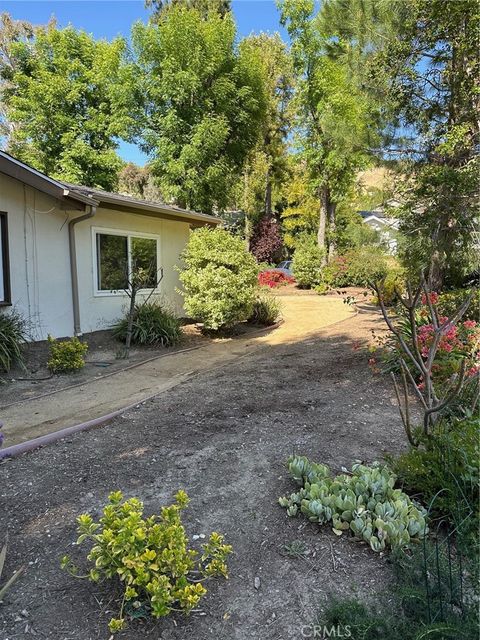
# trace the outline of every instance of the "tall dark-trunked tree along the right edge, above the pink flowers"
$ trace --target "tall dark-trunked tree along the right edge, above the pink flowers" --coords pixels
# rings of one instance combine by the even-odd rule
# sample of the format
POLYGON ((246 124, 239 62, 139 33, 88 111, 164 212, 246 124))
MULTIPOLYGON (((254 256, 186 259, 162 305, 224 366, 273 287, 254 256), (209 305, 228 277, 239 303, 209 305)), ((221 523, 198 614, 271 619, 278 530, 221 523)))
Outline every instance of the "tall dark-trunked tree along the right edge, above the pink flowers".
POLYGON ((337 53, 382 96, 386 151, 405 160, 404 260, 431 264, 434 288, 453 284, 472 268, 478 227, 478 2, 326 0, 324 11, 337 53))

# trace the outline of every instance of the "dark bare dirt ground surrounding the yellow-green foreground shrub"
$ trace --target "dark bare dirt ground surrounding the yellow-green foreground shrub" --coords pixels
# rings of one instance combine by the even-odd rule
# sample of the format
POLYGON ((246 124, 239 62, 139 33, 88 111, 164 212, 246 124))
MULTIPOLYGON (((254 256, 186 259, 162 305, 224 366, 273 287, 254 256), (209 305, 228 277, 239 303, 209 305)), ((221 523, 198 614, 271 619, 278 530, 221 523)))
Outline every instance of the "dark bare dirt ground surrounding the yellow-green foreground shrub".
POLYGON ((4 575, 27 567, 0 607, 0 637, 109 637, 111 589, 69 576, 59 562, 84 556, 72 547, 75 517, 97 517, 116 489, 153 513, 184 488, 189 536, 220 531, 235 552, 229 579, 209 583, 200 613, 132 622, 119 638, 295 640, 308 637, 329 594, 388 594, 385 556, 287 518, 278 505, 294 490, 284 466, 292 453, 340 472, 405 446, 388 380, 372 376, 358 348, 380 327, 378 315, 359 314, 304 340, 265 344, 108 426, 0 464, 4 575), (287 553, 296 540, 305 558, 287 553))

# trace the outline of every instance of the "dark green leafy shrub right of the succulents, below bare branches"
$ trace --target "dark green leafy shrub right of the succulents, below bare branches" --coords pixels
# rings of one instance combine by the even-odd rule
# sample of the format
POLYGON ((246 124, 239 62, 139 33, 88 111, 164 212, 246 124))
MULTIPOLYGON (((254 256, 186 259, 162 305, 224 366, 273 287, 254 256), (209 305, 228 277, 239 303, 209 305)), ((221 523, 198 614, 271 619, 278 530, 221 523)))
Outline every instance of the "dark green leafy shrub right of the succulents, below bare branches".
MULTIPOLYGON (((452 524, 470 516, 476 527, 480 499, 480 443, 474 418, 444 420, 418 448, 390 458, 405 491, 432 504, 432 515, 452 524)), ((466 522, 465 524, 468 524, 466 522)))

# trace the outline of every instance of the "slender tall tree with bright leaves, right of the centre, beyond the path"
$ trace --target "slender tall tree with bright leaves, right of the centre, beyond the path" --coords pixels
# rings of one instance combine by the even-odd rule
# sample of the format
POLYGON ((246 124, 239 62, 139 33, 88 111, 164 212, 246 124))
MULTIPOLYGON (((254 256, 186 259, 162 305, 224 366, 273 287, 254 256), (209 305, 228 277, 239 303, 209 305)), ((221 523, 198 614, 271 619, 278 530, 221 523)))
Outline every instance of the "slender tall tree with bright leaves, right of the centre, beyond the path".
POLYGON ((369 161, 372 103, 348 65, 330 55, 322 15, 313 0, 281 0, 280 8, 298 74, 297 143, 318 199, 318 245, 326 248, 328 229, 331 256, 337 203, 369 161))

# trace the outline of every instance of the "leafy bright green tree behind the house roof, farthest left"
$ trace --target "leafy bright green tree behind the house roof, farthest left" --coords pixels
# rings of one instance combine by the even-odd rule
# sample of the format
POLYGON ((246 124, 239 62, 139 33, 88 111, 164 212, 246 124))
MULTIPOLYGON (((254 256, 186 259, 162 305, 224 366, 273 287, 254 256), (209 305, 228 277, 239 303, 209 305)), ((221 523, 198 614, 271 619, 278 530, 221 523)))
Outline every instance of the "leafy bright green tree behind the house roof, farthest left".
POLYGON ((133 121, 124 40, 97 41, 54 22, 9 36, 8 25, 0 57, 7 150, 54 178, 115 188, 118 138, 133 121))

